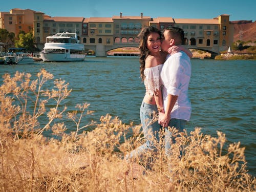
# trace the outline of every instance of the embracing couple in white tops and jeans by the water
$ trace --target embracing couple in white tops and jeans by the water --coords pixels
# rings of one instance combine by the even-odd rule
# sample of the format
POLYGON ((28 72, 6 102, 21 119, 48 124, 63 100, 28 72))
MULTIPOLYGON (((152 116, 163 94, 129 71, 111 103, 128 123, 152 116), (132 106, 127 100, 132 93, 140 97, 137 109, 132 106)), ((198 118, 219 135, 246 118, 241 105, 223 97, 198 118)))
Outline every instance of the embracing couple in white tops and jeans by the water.
POLYGON ((146 89, 140 108, 145 143, 127 154, 127 161, 156 151, 162 127, 165 129, 165 152, 170 155, 170 145, 175 143, 175 138, 168 126, 182 132, 191 114, 188 84, 192 53, 181 46, 184 31, 170 27, 162 33, 148 26, 138 36, 140 76, 146 89), (159 114, 158 120, 154 119, 154 114, 159 114))

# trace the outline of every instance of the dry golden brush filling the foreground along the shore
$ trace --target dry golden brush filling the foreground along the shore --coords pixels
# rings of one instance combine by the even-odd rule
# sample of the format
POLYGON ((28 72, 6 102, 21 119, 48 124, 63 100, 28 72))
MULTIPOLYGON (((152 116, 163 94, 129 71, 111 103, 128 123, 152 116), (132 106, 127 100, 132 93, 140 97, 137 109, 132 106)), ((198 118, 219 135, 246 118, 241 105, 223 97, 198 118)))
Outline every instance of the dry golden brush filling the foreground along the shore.
POLYGON ((53 81, 53 75, 45 70, 35 80, 18 72, 14 77, 4 76, 0 87, 1 191, 255 191, 244 148, 240 143, 224 148, 223 133, 215 138, 203 135, 200 128, 190 134, 172 128, 179 136, 172 156, 165 156, 160 142, 158 152, 148 154, 154 162, 151 169, 145 169, 139 166, 146 164, 143 159, 122 160, 143 142, 140 125, 124 124, 108 114, 98 124, 81 125, 82 117, 92 113, 86 111, 89 104, 78 104, 77 111, 66 114, 61 101, 71 92, 68 83, 57 79, 54 89, 47 90, 47 81, 53 81), (65 117, 74 121, 75 131, 70 134, 61 122, 65 117), (41 118, 44 125, 39 123, 41 118), (88 126, 93 131, 84 131, 88 126), (44 137, 46 130, 59 139, 44 137), (131 132, 133 137, 127 138, 131 132))

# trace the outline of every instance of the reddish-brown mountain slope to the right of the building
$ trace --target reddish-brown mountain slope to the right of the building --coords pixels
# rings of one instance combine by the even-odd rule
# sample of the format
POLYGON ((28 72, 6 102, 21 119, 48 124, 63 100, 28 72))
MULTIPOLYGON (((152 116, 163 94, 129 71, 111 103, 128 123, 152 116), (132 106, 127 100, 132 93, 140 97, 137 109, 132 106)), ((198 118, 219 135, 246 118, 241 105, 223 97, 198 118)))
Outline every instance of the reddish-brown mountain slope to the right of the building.
POLYGON ((251 20, 232 21, 234 24, 234 42, 241 41, 256 41, 256 22, 251 20))

